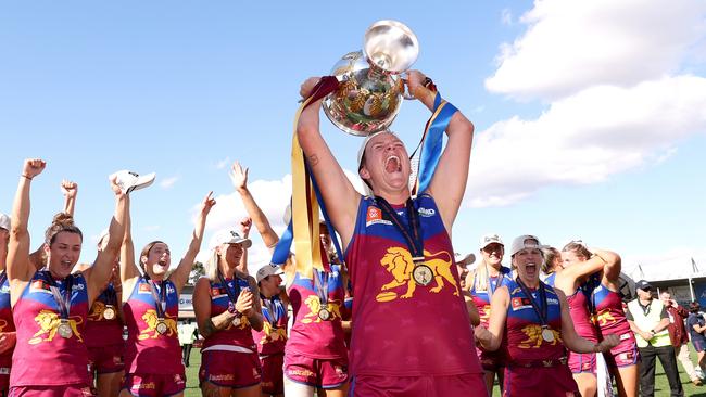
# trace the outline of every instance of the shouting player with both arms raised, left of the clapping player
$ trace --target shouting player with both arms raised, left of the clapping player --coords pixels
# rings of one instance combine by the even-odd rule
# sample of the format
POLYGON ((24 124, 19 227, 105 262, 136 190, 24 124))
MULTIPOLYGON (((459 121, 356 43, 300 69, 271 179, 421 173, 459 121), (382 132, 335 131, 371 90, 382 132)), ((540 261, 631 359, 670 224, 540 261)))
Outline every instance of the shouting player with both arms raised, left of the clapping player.
MULTIPOLYGON (((138 182, 139 183, 139 177, 138 182)), ((209 193, 201 203, 191 242, 176 270, 167 274, 172 264, 169 247, 161 242, 149 243, 135 264, 130 233, 129 197, 123 247, 121 279, 123 310, 128 337, 125 348, 126 374, 121 396, 181 396, 186 376, 181 363, 181 346, 177 334, 179 293, 189 279, 194 258, 203 239, 209 212, 216 204, 209 193)), ((112 234, 111 234, 112 235, 112 234)))

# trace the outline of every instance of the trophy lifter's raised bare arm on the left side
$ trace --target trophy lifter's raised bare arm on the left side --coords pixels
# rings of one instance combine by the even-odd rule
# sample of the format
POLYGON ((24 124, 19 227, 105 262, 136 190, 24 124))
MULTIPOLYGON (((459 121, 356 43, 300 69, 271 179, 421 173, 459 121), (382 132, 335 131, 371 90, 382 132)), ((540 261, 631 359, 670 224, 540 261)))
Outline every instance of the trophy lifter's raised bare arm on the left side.
MULTIPOLYGON (((318 81, 316 77, 304 81, 300 94, 307 98, 318 81)), ((322 187, 326 208, 336 231, 341 235, 343 249, 345 249, 353 236, 361 195, 355 191, 322 137, 318 118, 320 107, 322 100, 318 100, 302 111, 297 124, 297 136, 310 169, 318 185, 322 187)))

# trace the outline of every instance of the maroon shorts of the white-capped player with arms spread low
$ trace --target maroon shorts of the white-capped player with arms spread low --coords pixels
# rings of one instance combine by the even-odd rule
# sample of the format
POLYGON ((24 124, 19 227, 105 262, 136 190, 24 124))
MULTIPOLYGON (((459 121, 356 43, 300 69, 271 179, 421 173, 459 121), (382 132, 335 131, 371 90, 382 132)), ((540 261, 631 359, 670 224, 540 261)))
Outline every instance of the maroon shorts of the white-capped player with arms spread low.
POLYGON ((503 396, 580 397, 579 386, 568 366, 556 367, 514 367, 505 368, 503 396))

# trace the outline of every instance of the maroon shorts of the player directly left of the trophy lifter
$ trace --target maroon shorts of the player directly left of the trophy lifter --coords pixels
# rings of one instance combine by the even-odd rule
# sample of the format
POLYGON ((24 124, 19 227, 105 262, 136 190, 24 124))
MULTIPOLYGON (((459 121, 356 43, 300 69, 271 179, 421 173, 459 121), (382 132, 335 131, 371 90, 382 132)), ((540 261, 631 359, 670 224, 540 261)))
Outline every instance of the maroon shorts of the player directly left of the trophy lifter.
POLYGON ((348 357, 318 359, 288 353, 285 355, 285 376, 307 386, 337 388, 349 381, 348 357))

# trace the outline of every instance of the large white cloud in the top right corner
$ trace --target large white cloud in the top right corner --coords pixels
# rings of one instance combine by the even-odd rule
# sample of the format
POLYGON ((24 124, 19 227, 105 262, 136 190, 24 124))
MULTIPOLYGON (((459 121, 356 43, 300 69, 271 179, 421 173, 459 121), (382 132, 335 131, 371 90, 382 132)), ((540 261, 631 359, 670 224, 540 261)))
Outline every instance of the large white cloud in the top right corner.
POLYGON ((501 46, 486 87, 552 100, 596 84, 630 87, 675 74, 703 39, 705 14, 701 0, 535 0, 520 18, 527 31, 501 46))

